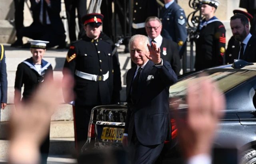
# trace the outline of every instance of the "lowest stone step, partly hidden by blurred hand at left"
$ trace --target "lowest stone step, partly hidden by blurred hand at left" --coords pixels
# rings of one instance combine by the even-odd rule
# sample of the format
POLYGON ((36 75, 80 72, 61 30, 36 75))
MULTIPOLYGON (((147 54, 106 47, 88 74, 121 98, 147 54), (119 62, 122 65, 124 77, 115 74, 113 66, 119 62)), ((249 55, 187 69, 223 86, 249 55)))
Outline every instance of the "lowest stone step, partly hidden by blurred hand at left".
MULTIPOLYGON (((8 157, 8 140, 0 140, 0 158, 8 157)), ((74 138, 50 138, 49 156, 74 154, 74 138)))

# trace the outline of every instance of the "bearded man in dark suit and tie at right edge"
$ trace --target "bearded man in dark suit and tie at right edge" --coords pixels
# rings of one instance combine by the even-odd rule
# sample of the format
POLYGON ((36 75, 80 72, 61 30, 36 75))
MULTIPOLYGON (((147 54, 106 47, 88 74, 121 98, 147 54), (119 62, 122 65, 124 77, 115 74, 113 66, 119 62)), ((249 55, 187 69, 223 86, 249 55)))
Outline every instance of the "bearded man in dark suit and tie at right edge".
POLYGON ((256 62, 256 37, 250 34, 248 18, 243 14, 236 14, 230 18, 230 27, 235 40, 240 42, 240 50, 235 59, 256 62))

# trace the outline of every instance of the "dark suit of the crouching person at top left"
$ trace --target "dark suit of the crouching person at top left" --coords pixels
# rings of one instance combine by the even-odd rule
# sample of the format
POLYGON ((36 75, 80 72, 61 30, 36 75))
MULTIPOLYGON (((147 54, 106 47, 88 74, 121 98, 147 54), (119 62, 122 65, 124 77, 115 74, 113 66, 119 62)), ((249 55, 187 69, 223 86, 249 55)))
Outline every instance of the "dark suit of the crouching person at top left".
POLYGON ((60 18, 60 0, 51 0, 50 6, 46 6, 51 24, 43 25, 40 22, 41 0, 38 3, 32 0, 30 10, 33 12, 34 21, 30 26, 22 28, 20 35, 22 37, 32 38, 33 40, 49 41, 50 43, 47 44, 47 47, 59 45, 65 34, 65 29, 60 18))

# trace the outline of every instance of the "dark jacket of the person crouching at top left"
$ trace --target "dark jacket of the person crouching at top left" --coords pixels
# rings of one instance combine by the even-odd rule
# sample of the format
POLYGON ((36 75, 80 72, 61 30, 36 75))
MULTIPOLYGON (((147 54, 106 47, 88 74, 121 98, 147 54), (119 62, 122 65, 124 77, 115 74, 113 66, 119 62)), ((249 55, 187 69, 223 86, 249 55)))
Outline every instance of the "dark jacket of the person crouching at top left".
MULTIPOLYGON (((41 10, 41 0, 40 2, 36 3, 36 0, 31 0, 31 8, 33 12, 33 23, 38 24, 40 23, 40 10, 41 10)), ((44 2, 46 3, 46 2, 44 2)), ((54 32, 58 35, 62 35, 65 33, 65 29, 60 18, 60 11, 61 11, 61 2, 60 0, 51 0, 50 6, 46 7, 52 28, 54 32)))

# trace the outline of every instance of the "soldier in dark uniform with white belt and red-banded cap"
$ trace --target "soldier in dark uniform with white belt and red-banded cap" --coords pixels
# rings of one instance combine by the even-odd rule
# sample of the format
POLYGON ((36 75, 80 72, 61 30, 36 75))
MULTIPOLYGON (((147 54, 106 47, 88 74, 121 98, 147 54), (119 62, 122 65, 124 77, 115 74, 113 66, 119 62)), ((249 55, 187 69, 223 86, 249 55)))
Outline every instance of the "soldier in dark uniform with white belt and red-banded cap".
MULTIPOLYGON (((92 108, 109 105, 113 91, 112 47, 100 39, 102 14, 86 14, 82 17, 86 37, 71 43, 64 69, 74 75, 74 130, 78 153, 85 144, 92 108)), ((63 71, 63 78, 66 77, 63 71)), ((73 87, 73 86, 70 86, 73 87)), ((64 101, 67 99, 64 94, 64 101)))

